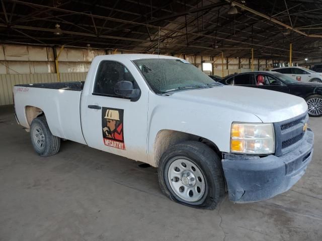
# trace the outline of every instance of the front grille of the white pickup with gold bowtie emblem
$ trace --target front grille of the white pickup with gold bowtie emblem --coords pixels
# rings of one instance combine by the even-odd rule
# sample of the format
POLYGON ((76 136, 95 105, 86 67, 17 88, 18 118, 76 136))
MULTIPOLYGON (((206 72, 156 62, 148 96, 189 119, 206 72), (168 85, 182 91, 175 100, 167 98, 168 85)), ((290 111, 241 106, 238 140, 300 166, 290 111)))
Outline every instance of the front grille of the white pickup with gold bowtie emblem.
POLYGON ((286 121, 274 123, 276 156, 286 154, 300 145, 305 135, 303 126, 307 121, 308 114, 304 113, 286 121))

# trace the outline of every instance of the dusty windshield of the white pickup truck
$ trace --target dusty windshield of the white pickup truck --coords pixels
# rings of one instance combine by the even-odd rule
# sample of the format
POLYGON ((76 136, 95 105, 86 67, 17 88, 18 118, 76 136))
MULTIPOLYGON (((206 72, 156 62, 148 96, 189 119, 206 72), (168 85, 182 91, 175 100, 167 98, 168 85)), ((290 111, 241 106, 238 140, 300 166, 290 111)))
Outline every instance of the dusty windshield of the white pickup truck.
POLYGON ((221 85, 183 59, 138 59, 133 62, 156 94, 221 85))

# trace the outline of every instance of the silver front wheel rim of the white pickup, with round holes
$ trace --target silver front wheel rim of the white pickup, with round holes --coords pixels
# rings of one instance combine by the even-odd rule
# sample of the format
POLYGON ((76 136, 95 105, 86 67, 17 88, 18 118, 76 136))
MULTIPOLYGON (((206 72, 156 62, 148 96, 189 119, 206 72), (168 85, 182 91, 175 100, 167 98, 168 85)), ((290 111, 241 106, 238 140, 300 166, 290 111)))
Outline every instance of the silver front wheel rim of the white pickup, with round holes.
POLYGON ((177 159, 168 169, 168 180, 173 192, 187 202, 199 201, 206 189, 200 168, 186 159, 177 159))

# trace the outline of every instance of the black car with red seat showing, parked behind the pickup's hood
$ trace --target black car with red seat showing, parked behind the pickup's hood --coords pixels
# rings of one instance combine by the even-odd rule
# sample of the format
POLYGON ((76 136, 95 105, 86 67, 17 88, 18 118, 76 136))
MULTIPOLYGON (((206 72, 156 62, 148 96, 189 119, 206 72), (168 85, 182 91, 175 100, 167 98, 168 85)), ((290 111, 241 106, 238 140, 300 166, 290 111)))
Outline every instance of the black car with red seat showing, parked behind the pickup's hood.
POLYGON ((273 71, 231 74, 218 82, 293 94, 305 99, 310 116, 322 116, 322 83, 298 82, 287 75, 273 71))

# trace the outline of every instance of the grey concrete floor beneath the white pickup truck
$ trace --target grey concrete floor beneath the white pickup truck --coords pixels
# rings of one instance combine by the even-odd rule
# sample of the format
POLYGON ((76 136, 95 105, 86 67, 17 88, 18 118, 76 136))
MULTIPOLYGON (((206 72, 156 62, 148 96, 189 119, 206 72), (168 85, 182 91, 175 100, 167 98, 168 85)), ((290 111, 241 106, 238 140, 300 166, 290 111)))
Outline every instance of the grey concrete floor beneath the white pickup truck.
POLYGON ((0 240, 322 240, 321 121, 310 118, 314 157, 291 190, 207 211, 168 200, 156 169, 126 158, 70 141, 39 157, 0 107, 0 240))

